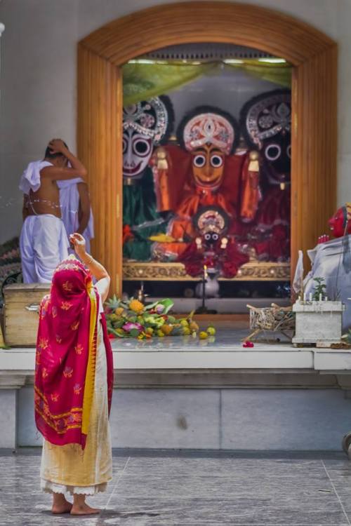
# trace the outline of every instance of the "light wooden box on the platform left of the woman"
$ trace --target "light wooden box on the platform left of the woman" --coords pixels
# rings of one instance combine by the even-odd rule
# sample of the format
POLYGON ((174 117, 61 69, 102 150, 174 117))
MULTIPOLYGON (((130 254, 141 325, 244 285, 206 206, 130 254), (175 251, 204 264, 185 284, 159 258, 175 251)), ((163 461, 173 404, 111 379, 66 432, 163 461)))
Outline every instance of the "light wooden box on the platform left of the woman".
POLYGON ((4 338, 8 346, 34 347, 37 342, 39 304, 50 283, 14 283, 4 288, 4 338))

